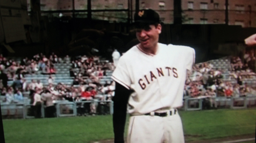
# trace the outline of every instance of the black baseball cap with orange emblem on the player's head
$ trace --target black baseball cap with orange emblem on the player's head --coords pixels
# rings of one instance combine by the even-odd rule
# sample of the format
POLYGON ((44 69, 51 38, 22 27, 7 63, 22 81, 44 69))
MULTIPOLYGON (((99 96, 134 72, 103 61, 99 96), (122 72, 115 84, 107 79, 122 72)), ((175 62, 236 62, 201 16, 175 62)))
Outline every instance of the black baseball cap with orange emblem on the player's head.
POLYGON ((152 9, 144 9, 134 14, 134 23, 153 24, 160 23, 159 14, 152 9))

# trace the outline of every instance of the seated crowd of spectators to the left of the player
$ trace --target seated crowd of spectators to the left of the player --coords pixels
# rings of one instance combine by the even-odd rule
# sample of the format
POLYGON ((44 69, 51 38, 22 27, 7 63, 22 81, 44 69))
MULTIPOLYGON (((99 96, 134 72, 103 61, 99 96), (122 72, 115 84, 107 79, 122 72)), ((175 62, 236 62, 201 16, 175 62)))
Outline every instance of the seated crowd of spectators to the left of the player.
MULTIPOLYGON (((54 53, 51 54, 49 58, 46 58, 46 56, 42 54, 36 54, 33 56, 33 59, 28 60, 28 58, 25 58, 20 61, 20 63, 14 62, 13 60, 6 60, 2 55, 1 57, 1 74, 7 76, 6 80, 13 80, 12 86, 8 87, 7 81, 6 83, 2 82, 3 78, 1 77, 0 92, 1 96, 5 97, 3 102, 7 104, 23 102, 22 93, 28 92, 28 98, 32 105, 29 115, 35 116, 35 118, 41 117, 40 108, 43 103, 46 107, 46 117, 54 117, 52 111, 55 107, 53 104, 61 100, 80 102, 98 99, 102 101, 98 103, 98 111, 96 111, 96 103, 77 103, 78 115, 94 115, 96 112, 100 114, 109 112, 109 110, 106 109, 109 108, 109 104, 104 101, 112 99, 115 82, 108 80, 102 84, 102 82, 100 83, 100 79, 106 75, 106 70, 114 70, 115 67, 113 63, 109 63, 108 61, 100 62, 98 56, 88 58, 86 55, 75 57, 73 60, 67 55, 65 58, 61 59, 54 55, 54 53), (9 67, 6 66, 10 65, 6 64, 10 62, 12 65, 9 67), (58 83, 57 85, 53 84, 54 78, 51 74, 56 70, 51 70, 51 67, 54 67, 55 63, 72 63, 70 76, 74 77, 74 81, 71 86, 62 83, 58 83), (14 68, 17 67, 16 65, 22 67, 22 69, 17 70, 18 68, 14 68), (31 70, 27 73, 26 71, 28 71, 28 69, 31 70), (11 73, 9 76, 6 74, 8 72, 11 73), (32 79, 31 82, 28 83, 26 78, 24 78, 25 74, 38 74, 37 72, 50 74, 47 86, 44 87, 38 79, 32 79)), ((69 112, 68 108, 67 112, 69 112)))

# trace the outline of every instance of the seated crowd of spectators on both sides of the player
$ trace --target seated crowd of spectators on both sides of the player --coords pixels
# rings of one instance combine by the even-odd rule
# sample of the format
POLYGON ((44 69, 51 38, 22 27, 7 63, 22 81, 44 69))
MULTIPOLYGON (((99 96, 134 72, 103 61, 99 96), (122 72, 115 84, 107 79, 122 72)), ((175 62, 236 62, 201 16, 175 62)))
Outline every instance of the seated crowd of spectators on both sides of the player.
MULTIPOLYGON (((225 80, 224 71, 214 67, 211 62, 196 64, 193 71, 188 73, 184 87, 184 98, 209 98, 210 105, 214 106, 215 101, 211 97, 242 97, 255 94, 253 87, 243 83, 244 78, 252 78, 255 73, 248 67, 248 63, 253 61, 252 54, 245 55, 245 63, 238 56, 230 60, 231 71, 228 71, 228 80, 225 80), (248 60, 248 57, 250 60, 248 60), (231 80, 236 81, 231 82, 231 80)), ((254 58, 255 59, 255 58, 254 58)), ((106 71, 115 69, 114 63, 102 62, 98 56, 87 57, 76 56, 70 58, 58 58, 52 53, 49 58, 43 54, 36 54, 32 59, 24 58, 20 62, 7 60, 0 55, 0 92, 5 97, 7 104, 22 102, 23 92, 29 93, 31 106, 30 115, 36 118, 41 117, 40 108, 44 104, 46 107, 46 117, 54 117, 54 103, 59 101, 77 102, 77 114, 95 115, 108 112, 109 104, 114 96, 115 82, 106 80, 102 84, 101 79, 106 76, 106 71), (58 83, 54 85, 54 78, 51 74, 56 72, 55 63, 71 63, 69 69, 70 77, 73 78, 72 85, 58 83), (48 85, 44 86, 39 79, 32 79, 30 83, 26 81, 25 74, 50 74, 48 85), (13 80, 11 87, 8 87, 7 80, 13 80), (99 103, 95 100, 102 101, 99 103), (91 101, 81 102, 81 101, 91 101)), ((69 112, 68 107, 65 108, 69 112)))

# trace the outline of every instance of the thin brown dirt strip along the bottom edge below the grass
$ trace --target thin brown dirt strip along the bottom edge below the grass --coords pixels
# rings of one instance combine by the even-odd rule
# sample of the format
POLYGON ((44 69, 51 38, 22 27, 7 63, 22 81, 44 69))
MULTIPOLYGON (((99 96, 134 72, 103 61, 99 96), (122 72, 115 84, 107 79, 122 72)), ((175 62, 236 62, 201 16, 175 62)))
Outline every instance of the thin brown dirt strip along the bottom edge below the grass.
MULTIPOLYGON (((189 136, 185 136, 185 140, 187 140, 189 136)), ((255 138, 255 134, 248 134, 248 135, 239 135, 239 136, 230 136, 230 137, 223 137, 223 138, 216 138, 216 139, 205 139, 205 140, 197 140, 197 141, 185 141, 186 143, 217 143, 217 142, 224 142, 224 141, 232 141, 232 140, 239 140, 239 139, 247 139, 247 138, 255 138)), ((246 142, 246 141, 241 141, 246 142)), ((250 141, 251 142, 251 141, 250 141)), ((108 140, 100 140, 94 141, 92 143, 114 143, 113 139, 108 140)))

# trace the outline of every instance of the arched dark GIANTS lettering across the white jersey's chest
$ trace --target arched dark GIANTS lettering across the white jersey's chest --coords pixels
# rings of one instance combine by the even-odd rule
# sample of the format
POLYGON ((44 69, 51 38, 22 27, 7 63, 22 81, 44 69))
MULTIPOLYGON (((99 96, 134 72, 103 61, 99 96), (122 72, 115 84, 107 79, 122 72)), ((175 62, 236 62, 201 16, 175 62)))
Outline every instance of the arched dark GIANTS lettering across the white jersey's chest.
POLYGON ((152 71, 150 71, 150 76, 146 76, 144 75, 143 78, 140 78, 139 79, 139 84, 140 84, 140 87, 142 90, 144 90, 146 88, 146 83, 147 84, 150 84, 151 82, 153 82, 154 80, 156 80, 158 77, 161 77, 161 76, 174 76, 175 78, 178 78, 178 73, 177 73, 177 69, 176 68, 170 68, 170 67, 165 67, 165 68, 157 68, 156 69, 157 71, 157 75, 155 75, 152 71), (164 72, 163 71, 166 71, 165 73, 168 73, 168 75, 164 75, 164 72))

